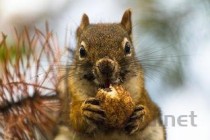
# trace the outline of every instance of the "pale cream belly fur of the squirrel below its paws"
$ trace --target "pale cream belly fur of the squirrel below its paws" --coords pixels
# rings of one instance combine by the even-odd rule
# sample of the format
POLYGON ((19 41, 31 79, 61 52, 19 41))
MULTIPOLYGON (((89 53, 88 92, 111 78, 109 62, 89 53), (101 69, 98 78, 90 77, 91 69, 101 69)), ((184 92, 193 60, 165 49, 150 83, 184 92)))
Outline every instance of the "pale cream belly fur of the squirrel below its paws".
POLYGON ((123 132, 113 131, 109 134, 98 133, 91 138, 77 135, 68 128, 61 127, 60 134, 55 140, 165 140, 165 130, 158 120, 152 121, 143 131, 135 135, 127 135, 123 132))

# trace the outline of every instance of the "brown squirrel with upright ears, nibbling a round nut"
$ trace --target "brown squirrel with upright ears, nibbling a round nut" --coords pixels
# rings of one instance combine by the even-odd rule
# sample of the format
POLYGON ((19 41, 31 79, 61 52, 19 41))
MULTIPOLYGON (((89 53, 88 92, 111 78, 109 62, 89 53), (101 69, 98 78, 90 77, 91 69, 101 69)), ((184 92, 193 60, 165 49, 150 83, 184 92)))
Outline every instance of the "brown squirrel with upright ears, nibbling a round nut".
POLYGON ((131 10, 124 12, 120 23, 92 24, 84 14, 76 39, 73 64, 67 74, 68 127, 60 127, 55 139, 166 140, 160 109, 145 89, 141 62, 135 54, 131 10), (106 116, 95 98, 99 88, 114 84, 122 85, 135 102, 124 128, 116 130, 103 126, 106 116))

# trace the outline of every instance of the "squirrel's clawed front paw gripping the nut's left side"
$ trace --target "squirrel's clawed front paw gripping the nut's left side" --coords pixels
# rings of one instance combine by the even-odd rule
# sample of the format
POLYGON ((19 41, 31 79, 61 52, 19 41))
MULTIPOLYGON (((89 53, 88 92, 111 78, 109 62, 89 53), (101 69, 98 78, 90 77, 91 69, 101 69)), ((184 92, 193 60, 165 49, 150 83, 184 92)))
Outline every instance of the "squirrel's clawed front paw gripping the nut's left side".
POLYGON ((98 125, 103 124, 106 120, 105 112, 100 107, 100 101, 96 98, 89 98, 82 104, 83 119, 92 128, 96 128, 98 125))

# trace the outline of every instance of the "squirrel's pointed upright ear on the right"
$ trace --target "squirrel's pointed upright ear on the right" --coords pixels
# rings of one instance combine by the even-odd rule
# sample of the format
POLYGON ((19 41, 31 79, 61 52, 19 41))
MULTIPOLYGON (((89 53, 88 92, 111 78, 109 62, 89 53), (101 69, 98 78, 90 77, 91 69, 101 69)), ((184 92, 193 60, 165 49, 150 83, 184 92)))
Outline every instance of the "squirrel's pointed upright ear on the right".
POLYGON ((127 30, 128 34, 132 33, 132 21, 131 21, 131 10, 128 9, 124 12, 121 25, 127 30))

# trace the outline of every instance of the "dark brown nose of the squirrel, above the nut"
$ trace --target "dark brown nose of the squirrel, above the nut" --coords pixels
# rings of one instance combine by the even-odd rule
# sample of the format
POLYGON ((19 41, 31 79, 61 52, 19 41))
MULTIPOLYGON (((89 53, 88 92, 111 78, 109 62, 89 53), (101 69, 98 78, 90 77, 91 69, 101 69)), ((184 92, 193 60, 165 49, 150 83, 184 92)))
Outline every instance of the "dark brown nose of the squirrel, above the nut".
POLYGON ((111 59, 99 60, 97 63, 97 67, 101 75, 107 77, 112 76, 115 69, 114 61, 111 59))

